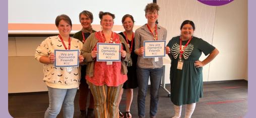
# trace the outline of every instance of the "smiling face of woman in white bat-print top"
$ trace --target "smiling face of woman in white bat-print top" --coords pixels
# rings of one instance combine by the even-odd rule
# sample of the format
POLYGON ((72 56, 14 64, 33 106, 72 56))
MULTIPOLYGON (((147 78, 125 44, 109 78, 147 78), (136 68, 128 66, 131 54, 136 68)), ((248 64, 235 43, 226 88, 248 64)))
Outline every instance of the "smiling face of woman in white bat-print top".
POLYGON ((71 32, 71 25, 64 20, 60 20, 58 24, 58 32, 62 36, 69 36, 71 32))

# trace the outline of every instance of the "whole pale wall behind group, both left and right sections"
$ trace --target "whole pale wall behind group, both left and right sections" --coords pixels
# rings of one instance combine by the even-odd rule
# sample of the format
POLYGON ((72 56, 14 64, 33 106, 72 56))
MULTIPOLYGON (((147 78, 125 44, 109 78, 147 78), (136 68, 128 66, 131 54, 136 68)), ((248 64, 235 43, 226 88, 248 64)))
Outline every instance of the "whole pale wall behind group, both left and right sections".
MULTIPOLYGON (((195 35, 220 51, 204 67, 204 81, 247 80, 247 1, 237 0, 220 7, 191 0, 158 0, 157 4, 160 6, 159 24, 168 31, 167 41, 179 35, 182 21, 190 19, 196 24, 195 35)), ((34 59, 36 47, 45 38, 9 37, 9 93, 47 91, 42 81, 43 65, 34 59)), ((170 83, 169 57, 165 57, 164 62, 165 83, 170 83)))

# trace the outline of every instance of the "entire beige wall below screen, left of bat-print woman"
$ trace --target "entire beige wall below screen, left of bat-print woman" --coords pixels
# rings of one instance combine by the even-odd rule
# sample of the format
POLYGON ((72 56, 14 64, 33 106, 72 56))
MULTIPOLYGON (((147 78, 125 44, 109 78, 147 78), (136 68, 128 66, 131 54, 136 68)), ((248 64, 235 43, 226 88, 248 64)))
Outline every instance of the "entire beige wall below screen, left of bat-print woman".
POLYGON ((46 37, 8 38, 8 93, 47 91, 35 49, 46 37))

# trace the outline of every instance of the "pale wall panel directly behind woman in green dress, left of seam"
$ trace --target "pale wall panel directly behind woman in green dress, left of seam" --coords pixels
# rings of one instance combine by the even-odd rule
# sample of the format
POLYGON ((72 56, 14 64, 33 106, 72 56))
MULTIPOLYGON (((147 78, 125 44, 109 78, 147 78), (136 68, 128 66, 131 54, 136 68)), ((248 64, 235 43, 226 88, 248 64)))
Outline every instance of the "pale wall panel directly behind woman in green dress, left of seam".
MULTIPOLYGON (((172 37, 180 35, 180 25, 184 20, 191 20, 196 25, 194 36, 212 44, 216 7, 189 0, 158 0, 157 4, 160 6, 158 22, 167 29, 167 42, 172 37)), ((202 55, 200 59, 205 57, 202 55)), ((208 81, 209 64, 204 66, 203 73, 203 80, 208 81)))

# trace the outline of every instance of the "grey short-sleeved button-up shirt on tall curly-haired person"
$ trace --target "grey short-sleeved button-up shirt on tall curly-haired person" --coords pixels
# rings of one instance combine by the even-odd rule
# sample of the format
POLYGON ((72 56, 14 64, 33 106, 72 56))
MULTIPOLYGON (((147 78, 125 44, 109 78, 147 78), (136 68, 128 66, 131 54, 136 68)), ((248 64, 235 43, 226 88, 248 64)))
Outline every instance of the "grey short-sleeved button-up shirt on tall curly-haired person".
MULTIPOLYGON (((152 31, 153 32, 153 31, 152 31)), ((154 30, 155 34, 155 30, 154 30)), ((166 40, 167 30, 159 25, 157 25, 157 38, 158 40, 166 40)), ((144 41, 154 41, 154 38, 147 28, 146 24, 138 28, 135 31, 135 50, 143 47, 144 41)), ((155 62, 154 58, 143 58, 143 56, 138 56, 137 66, 140 68, 161 68, 163 66, 163 58, 158 57, 159 61, 155 62)))

